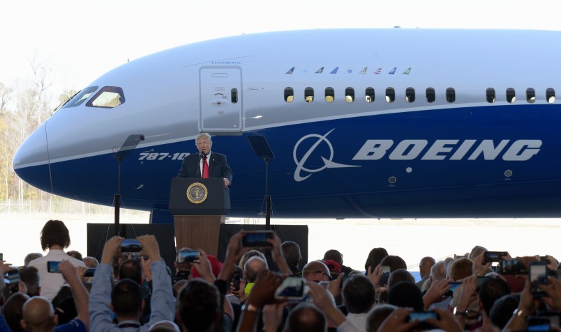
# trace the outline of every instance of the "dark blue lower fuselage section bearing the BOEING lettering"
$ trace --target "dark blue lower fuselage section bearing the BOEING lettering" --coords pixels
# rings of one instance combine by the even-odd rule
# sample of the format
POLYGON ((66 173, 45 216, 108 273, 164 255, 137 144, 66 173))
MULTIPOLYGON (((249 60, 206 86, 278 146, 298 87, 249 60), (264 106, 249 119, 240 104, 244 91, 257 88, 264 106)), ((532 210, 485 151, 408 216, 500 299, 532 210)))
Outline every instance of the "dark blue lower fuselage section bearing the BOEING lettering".
MULTIPOLYGON (((279 218, 561 216, 560 123, 553 105, 414 111, 214 136, 213 150, 234 172, 230 216, 264 211, 265 164, 246 137, 255 134, 275 155, 268 188, 279 218)), ((124 159, 124 207, 167 209, 184 152, 196 152, 193 141, 124 159)), ((47 191, 52 181, 57 195, 112 205, 117 171, 117 159, 98 155, 17 173, 47 191)))

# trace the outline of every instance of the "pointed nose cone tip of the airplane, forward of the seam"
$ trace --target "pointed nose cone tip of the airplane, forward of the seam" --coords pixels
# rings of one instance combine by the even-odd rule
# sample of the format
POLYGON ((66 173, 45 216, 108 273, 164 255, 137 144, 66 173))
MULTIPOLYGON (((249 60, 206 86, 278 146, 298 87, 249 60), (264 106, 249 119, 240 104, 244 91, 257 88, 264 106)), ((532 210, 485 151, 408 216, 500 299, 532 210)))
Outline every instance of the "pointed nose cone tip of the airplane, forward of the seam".
POLYGON ((47 122, 43 122, 22 143, 13 159, 17 176, 43 191, 52 192, 52 180, 47 145, 47 122))

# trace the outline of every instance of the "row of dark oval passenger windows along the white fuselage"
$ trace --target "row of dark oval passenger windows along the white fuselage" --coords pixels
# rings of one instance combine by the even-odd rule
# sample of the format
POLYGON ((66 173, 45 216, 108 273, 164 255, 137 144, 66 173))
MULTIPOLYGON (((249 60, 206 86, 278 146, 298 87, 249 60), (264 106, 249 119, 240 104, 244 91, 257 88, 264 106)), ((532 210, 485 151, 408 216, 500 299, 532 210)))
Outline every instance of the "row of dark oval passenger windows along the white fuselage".
MULTIPOLYGON (((354 102, 355 99, 354 88, 345 88, 345 102, 354 102)), ((506 91, 507 102, 514 103, 516 102, 516 92, 514 88, 507 88, 506 91)), ((396 90, 394 88, 386 88, 386 92, 384 95, 386 102, 395 102, 396 101, 396 90)), ((414 102, 415 101, 415 89, 414 88, 406 88, 405 89, 405 101, 406 102, 414 102)), ((434 88, 426 88, 424 94, 426 102, 435 102, 436 94, 434 88)), ((529 103, 536 101, 536 91, 533 88, 526 89, 526 101, 529 103)), ((306 102, 313 102, 315 99, 315 93, 313 88, 306 88, 304 89, 304 100, 306 102)), ((335 90, 334 88, 325 88, 324 99, 326 102, 333 102, 335 100, 335 90)), ((488 88, 486 91, 486 100, 487 102, 493 103, 496 99, 496 93, 494 88, 488 88)), ((375 100, 375 91, 374 88, 366 88, 364 90, 364 100, 367 103, 374 102, 375 100)), ((546 100, 548 103, 555 102, 555 90, 553 88, 548 88, 546 90, 546 100)), ((294 101, 294 89, 293 88, 285 88, 285 102, 293 102, 294 101)), ((447 102, 455 102, 456 101, 456 90, 454 88, 447 88, 446 89, 446 101, 447 102)))

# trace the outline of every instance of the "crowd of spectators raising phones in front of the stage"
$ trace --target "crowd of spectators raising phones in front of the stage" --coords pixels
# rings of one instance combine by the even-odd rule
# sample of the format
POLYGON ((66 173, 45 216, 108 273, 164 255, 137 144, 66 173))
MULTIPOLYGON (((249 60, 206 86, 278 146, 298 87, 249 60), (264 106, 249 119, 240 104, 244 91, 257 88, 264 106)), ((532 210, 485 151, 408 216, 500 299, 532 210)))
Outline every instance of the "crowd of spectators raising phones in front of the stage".
POLYGON ((98 262, 65 252, 68 229, 47 221, 45 255, 29 253, 17 269, 0 260, 0 332, 561 331, 552 256, 474 246, 462 257, 421 258, 416 283, 384 248, 357 270, 336 249, 302 262, 296 242, 275 235, 248 248, 244 235, 231 237, 222 262, 198 248, 183 259, 190 248, 181 248, 167 267, 154 236, 137 237, 135 254, 112 237, 98 262))

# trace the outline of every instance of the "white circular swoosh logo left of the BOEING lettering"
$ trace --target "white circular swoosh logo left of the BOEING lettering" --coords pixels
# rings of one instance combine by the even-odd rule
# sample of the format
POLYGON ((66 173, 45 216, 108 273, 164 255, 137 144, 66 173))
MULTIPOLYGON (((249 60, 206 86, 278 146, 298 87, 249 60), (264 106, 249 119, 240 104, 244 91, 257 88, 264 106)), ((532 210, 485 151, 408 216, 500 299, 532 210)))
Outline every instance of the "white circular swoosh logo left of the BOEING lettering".
POLYGON ((333 145, 331 145, 331 142, 329 142, 329 140, 327 139, 327 135, 329 135, 334 130, 335 130, 335 128, 331 129, 329 132, 327 132, 327 134, 325 134, 323 136, 321 136, 319 134, 306 135, 306 136, 302 137, 301 139, 299 139, 299 141, 296 143, 296 145, 294 145, 294 150, 292 151, 292 156, 294 157, 294 163, 296 163, 296 171, 294 171, 294 180, 295 181, 297 181, 297 182, 304 181, 308 177, 310 177, 312 175, 312 173, 317 173, 317 172, 323 171, 325 168, 361 167, 359 165, 339 164, 339 163, 336 163, 336 162, 333 161, 333 155, 334 155, 333 145), (300 144, 302 142, 306 141, 306 139, 317 139, 317 141, 315 141, 315 143, 313 143, 311 148, 308 149, 308 151, 304 154, 304 157, 302 157, 302 159, 298 160, 296 152, 297 152, 300 144), (329 147, 329 159, 325 159, 325 157, 321 156, 324 165, 321 166, 320 168, 311 169, 311 168, 304 167, 304 164, 306 164, 306 161, 308 160, 310 155, 315 151, 317 146, 319 146, 320 143, 322 143, 322 142, 325 142, 327 144, 327 146, 329 147), (309 174, 305 175, 305 176, 301 176, 302 171, 307 172, 309 174))

